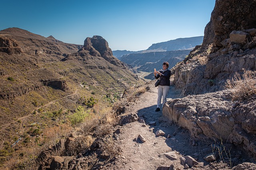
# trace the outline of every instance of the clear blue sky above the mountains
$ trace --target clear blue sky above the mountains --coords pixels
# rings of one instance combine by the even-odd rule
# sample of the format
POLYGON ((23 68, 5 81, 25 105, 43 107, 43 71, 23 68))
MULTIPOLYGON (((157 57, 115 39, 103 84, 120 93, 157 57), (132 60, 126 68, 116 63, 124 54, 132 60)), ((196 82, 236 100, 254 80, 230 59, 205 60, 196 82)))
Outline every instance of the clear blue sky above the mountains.
POLYGON ((18 27, 65 43, 100 35, 114 50, 204 35, 215 0, 4 0, 0 30, 18 27))

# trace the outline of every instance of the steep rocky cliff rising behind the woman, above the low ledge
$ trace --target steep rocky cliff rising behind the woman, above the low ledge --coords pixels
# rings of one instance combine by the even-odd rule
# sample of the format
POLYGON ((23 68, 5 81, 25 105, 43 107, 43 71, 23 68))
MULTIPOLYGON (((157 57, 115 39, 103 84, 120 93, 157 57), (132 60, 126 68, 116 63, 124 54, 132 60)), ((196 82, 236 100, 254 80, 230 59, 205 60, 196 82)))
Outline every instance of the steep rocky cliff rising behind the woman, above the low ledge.
POLYGON ((255 14, 256 1, 216 1, 202 46, 173 68, 174 83, 183 96, 223 90, 235 72, 255 70, 254 51, 250 51, 255 48, 255 14))

